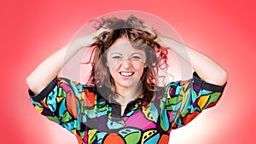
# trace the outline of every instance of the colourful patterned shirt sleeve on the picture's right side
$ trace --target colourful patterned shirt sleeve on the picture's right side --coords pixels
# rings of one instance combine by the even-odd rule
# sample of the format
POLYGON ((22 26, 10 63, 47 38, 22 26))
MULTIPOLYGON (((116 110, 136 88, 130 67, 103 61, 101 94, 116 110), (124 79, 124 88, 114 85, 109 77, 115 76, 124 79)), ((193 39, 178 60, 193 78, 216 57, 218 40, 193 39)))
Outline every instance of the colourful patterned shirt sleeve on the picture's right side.
POLYGON ((189 124, 203 110, 214 107, 226 84, 220 86, 203 81, 196 72, 193 78, 166 87, 166 110, 172 112, 172 129, 189 124))

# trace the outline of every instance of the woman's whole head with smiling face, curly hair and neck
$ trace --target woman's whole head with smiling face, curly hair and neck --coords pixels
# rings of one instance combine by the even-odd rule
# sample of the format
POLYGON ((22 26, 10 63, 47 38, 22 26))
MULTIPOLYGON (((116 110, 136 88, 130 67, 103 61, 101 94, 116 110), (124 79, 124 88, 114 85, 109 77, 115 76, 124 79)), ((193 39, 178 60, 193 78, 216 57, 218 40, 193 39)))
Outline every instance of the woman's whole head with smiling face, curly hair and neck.
POLYGON ((95 85, 106 99, 116 99, 118 94, 128 95, 128 98, 129 95, 140 95, 147 103, 158 90, 158 73, 168 66, 168 51, 160 49, 159 43, 155 42, 155 33, 143 31, 143 24, 133 15, 127 20, 113 17, 100 22, 98 28, 109 31, 95 37, 95 42, 90 45, 94 55, 88 62, 92 69, 87 84, 95 85))

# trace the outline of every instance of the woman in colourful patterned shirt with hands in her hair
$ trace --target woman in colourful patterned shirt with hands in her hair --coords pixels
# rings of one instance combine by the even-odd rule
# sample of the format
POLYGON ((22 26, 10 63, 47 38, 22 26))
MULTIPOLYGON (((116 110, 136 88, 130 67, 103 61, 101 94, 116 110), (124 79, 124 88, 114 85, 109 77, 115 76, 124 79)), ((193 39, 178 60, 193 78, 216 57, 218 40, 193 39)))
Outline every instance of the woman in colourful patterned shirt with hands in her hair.
POLYGON ((79 143, 167 144, 172 129, 216 105, 227 72, 131 15, 127 20, 102 20, 96 32, 49 56, 26 81, 38 112, 70 130, 79 143), (94 48, 88 83, 57 78, 61 67, 84 47, 94 48), (167 49, 190 62, 193 78, 160 86, 167 49))

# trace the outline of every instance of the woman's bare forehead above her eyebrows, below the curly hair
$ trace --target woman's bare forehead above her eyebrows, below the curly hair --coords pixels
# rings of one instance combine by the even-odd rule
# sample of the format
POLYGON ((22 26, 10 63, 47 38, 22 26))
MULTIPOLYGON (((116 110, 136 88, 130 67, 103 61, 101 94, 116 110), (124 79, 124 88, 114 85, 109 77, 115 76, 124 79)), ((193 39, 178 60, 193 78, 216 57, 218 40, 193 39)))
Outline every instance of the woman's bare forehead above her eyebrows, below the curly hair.
POLYGON ((142 49, 135 49, 126 37, 118 38, 108 49, 108 54, 119 53, 122 55, 130 55, 134 52, 144 54, 142 49))

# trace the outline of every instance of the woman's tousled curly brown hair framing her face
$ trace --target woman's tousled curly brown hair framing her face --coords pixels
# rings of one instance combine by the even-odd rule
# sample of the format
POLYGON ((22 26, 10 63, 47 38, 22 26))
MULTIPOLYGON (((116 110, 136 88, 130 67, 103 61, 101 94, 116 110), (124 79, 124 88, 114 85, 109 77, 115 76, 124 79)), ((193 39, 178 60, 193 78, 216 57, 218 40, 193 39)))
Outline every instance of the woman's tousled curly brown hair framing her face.
POLYGON ((91 62, 92 70, 90 72, 89 84, 96 86, 98 94, 113 96, 116 93, 114 80, 106 66, 108 48, 120 37, 127 37, 135 49, 141 49, 145 52, 146 67, 141 78, 143 103, 147 105, 153 98, 154 92, 158 91, 158 72, 159 69, 167 67, 167 50, 160 49, 160 44, 155 43, 157 34, 154 32, 143 31, 143 21, 137 19, 134 15, 127 20, 116 17, 108 18, 100 22, 99 28, 105 28, 110 31, 102 32, 95 37, 95 42, 90 45, 94 48, 94 58, 91 62))

